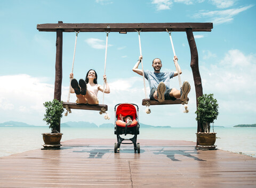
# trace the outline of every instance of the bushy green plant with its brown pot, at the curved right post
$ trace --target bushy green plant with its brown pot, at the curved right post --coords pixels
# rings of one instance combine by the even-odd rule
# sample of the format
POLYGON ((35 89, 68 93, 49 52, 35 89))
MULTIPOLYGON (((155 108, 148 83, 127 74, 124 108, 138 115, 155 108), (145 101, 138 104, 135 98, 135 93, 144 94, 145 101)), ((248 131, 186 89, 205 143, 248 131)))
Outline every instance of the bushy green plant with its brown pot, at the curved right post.
POLYGON ((217 99, 213 98, 213 94, 204 94, 202 97, 198 97, 198 106, 195 114, 196 120, 203 125, 203 133, 196 133, 197 142, 199 143, 199 149, 215 149, 214 143, 216 141, 216 133, 210 132, 210 124, 214 123, 219 115, 219 105, 217 99))

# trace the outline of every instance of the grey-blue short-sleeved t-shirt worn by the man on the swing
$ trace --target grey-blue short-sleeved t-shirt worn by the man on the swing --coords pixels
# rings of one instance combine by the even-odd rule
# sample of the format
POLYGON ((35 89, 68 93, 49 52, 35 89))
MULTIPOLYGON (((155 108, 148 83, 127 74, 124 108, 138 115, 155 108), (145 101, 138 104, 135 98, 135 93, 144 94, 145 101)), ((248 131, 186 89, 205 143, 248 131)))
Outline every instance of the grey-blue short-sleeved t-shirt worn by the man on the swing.
POLYGON ((160 82, 164 82, 166 89, 170 89, 170 79, 173 78, 174 72, 155 73, 151 71, 144 71, 145 78, 148 80, 150 90, 157 88, 160 82))

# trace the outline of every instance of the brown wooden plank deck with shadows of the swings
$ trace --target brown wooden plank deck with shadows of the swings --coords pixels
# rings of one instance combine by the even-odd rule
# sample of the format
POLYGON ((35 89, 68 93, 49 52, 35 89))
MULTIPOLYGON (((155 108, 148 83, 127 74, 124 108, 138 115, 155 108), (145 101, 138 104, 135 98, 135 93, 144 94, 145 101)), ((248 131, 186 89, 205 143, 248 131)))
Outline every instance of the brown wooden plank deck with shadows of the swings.
POLYGON ((75 139, 1 157, 0 187, 256 187, 256 158, 170 140, 138 140, 140 154, 132 144, 114 153, 115 142, 75 139))

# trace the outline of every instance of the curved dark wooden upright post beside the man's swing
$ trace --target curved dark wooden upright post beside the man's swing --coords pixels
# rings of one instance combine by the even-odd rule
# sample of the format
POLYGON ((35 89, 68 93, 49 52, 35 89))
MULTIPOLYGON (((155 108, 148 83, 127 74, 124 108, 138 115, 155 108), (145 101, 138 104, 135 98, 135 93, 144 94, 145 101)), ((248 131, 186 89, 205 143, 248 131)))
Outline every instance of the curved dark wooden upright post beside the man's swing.
MULTIPOLYGON (((202 87, 202 81, 201 76, 199 72, 199 66, 198 66, 198 53, 196 48, 196 41, 193 35, 193 32, 191 29, 187 29, 187 38, 188 38, 188 44, 190 47, 190 54, 191 54, 191 62, 190 67, 192 69, 193 77, 194 77, 194 83, 195 83, 195 89, 196 89, 196 107, 198 106, 197 98, 203 96, 203 87, 202 87)), ((197 132, 203 132, 203 124, 197 121, 197 132)), ((198 145, 198 143, 196 144, 198 145)))

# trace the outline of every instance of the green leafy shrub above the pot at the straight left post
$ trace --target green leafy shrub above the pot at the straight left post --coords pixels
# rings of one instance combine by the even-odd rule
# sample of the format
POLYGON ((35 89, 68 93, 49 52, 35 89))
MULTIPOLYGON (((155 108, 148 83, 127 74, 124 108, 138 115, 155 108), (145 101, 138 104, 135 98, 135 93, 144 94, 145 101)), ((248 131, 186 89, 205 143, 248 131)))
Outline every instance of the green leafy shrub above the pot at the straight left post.
POLYGON ((49 128, 52 130, 52 132, 57 132, 57 128, 60 124, 60 118, 64 112, 62 101, 60 102, 57 99, 53 99, 52 101, 45 102, 44 107, 45 114, 43 121, 49 125, 49 128))

